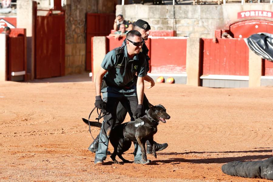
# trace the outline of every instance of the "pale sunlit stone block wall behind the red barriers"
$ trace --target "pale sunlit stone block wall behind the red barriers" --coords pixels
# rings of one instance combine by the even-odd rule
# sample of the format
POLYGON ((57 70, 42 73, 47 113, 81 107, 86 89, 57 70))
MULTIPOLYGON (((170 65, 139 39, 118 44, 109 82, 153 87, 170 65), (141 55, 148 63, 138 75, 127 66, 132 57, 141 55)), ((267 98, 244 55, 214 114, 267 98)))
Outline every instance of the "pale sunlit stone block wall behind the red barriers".
MULTIPOLYGON (((237 13, 248 10, 273 11, 269 3, 225 5, 117 5, 116 15, 132 22, 143 19, 152 30, 176 30, 177 36, 212 38, 215 29, 237 21, 237 13)), ((272 20, 272 19, 271 19, 272 20)))

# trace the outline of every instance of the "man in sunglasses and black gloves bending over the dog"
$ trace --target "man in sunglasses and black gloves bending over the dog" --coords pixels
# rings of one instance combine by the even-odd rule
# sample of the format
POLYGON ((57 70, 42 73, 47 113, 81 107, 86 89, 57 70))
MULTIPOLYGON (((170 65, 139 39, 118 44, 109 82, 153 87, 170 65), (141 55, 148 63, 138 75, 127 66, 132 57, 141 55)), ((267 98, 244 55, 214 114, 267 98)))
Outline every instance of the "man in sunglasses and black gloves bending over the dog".
MULTIPOLYGON (((146 59, 139 54, 143 45, 140 32, 131 30, 126 36, 126 45, 108 52, 103 59, 101 68, 96 75, 96 102, 99 109, 106 109, 109 113, 104 116, 98 138, 98 149, 95 155, 95 164, 103 164, 106 159, 109 136, 115 125, 121 124, 123 120, 116 120, 117 106, 121 103, 126 112, 137 113, 143 116, 143 94, 144 76, 146 76, 146 59), (135 76, 136 83, 135 83, 135 76), (101 98, 100 93, 103 95, 101 98)), ((134 163, 147 164, 150 160, 143 161, 141 148, 134 143, 134 163)))

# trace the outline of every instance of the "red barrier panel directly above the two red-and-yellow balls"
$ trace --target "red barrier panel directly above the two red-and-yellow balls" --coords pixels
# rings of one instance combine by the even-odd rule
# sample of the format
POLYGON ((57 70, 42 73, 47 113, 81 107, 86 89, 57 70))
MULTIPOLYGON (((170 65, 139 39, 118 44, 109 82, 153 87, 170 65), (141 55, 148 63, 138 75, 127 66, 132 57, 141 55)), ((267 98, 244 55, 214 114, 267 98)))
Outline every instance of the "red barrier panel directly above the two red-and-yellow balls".
POLYGON ((151 38, 150 71, 152 73, 186 72, 186 38, 151 38))

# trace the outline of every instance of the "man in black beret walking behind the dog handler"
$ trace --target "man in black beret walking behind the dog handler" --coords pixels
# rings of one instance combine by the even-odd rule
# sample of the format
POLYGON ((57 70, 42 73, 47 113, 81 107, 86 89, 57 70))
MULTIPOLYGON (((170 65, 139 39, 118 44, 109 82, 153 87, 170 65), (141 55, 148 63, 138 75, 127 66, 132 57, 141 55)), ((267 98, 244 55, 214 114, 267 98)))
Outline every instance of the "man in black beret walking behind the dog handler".
MULTIPOLYGON (((139 19, 135 22, 134 29, 137 30, 138 32, 140 32, 143 40, 148 39, 149 30, 151 29, 148 22, 139 19)), ((127 42, 127 39, 125 39, 123 41, 122 46, 126 45, 126 42, 127 42)), ((144 41, 143 46, 141 48, 141 54, 143 56, 145 56, 145 58, 146 58, 146 76, 144 76, 144 80, 150 83, 150 86, 148 87, 148 89, 150 89, 151 87, 154 86, 155 83, 154 83, 153 79, 147 75, 147 72, 149 71, 149 59, 150 59, 148 56, 148 52, 149 52, 149 49, 147 48, 145 41, 144 41)), ((135 76, 134 80, 136 80, 136 78, 137 77, 135 76)), ((136 83, 136 81, 134 81, 134 83, 136 83)), ((149 101, 148 101, 146 95, 144 94, 144 96, 143 96, 143 107, 144 107, 143 109, 144 110, 149 109, 148 103, 149 103, 149 101)), ((119 103, 117 106, 117 110, 116 110, 116 120, 118 121, 117 123, 122 123, 125 120, 126 114, 127 114, 127 110, 124 108, 124 106, 121 103, 119 103)), ((131 121, 133 121, 134 120, 133 114, 129 112, 129 115, 131 117, 131 121)), ((91 145, 88 147, 88 150, 90 150, 93 153, 96 152, 96 150, 98 149, 98 144, 99 144, 99 135, 96 137, 96 139, 93 141, 93 143, 91 143, 91 145)), ((152 146, 153 145, 151 145, 149 143, 149 141, 147 141, 146 144, 147 144, 147 148, 146 148, 147 153, 152 153, 152 146)), ((163 150, 167 147, 168 147, 167 143, 160 144, 160 143, 155 142, 156 151, 163 150)))

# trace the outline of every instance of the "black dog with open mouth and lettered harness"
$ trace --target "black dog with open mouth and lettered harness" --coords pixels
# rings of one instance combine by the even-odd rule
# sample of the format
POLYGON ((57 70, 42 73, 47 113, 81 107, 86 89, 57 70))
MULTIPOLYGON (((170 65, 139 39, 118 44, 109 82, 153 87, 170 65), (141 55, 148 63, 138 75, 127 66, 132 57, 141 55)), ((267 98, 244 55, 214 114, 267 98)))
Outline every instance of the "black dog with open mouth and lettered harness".
MULTIPOLYGON (((116 160, 118 156, 123 162, 130 162, 122 157, 122 154, 131 147, 131 143, 137 142, 142 152, 142 160, 147 161, 145 142, 149 140, 152 144, 153 135, 157 133, 157 125, 159 122, 166 123, 166 119, 170 116, 166 113, 166 109, 162 105, 153 106, 149 103, 150 109, 146 111, 146 115, 137 118, 135 121, 123 123, 113 128, 110 134, 110 142, 114 147, 111 159, 114 163, 120 163, 116 160)), ((85 119, 83 119, 85 123, 85 119)), ((155 146, 153 144, 153 156, 157 158, 155 146)))

